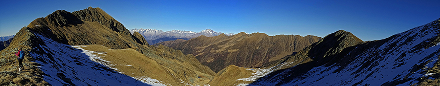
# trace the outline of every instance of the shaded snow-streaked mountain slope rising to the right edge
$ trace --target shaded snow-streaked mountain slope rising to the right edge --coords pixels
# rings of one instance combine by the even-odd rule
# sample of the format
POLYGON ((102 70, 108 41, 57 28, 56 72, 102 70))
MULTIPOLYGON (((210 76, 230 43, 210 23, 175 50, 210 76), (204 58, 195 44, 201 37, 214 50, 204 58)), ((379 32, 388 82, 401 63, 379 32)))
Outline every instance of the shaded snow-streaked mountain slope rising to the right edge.
MULTIPOLYGON (((304 59, 284 60, 286 62, 274 67, 255 70, 255 76, 239 80, 255 81, 250 86, 409 86, 419 83, 420 79, 438 79, 438 74, 428 69, 439 62, 439 22, 440 19, 384 40, 337 50, 327 57, 315 57, 313 54, 317 51, 313 48, 304 49, 292 56, 304 59), (292 66, 292 63, 299 64, 292 66), (285 66, 292 67, 283 68, 285 66)), ((314 45, 318 44, 325 43, 314 45)))

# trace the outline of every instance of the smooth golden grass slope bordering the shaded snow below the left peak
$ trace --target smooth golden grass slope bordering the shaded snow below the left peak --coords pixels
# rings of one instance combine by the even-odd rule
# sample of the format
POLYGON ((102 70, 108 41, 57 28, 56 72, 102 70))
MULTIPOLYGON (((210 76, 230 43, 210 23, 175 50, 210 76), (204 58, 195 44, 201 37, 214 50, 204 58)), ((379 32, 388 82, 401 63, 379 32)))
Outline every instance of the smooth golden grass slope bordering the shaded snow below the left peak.
POLYGON ((107 55, 101 55, 101 57, 107 61, 113 62, 113 68, 117 68, 123 72, 123 74, 132 77, 142 77, 148 76, 152 79, 157 79, 163 81, 164 83, 181 86, 183 84, 179 83, 180 80, 172 76, 169 70, 162 68, 160 64, 156 63, 153 59, 146 57, 144 54, 138 51, 128 48, 128 49, 110 49, 103 45, 80 45, 81 48, 86 50, 91 50, 95 52, 105 52, 107 55), (132 65, 132 66, 127 66, 132 65))

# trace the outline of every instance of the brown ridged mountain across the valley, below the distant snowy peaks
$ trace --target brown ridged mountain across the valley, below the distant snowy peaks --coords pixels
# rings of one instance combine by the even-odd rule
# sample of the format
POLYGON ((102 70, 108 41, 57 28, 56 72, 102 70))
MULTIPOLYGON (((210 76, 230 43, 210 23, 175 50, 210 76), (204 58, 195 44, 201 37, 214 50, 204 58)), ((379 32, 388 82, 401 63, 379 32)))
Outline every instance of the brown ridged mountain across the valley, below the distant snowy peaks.
POLYGON ((268 36, 264 33, 248 35, 242 32, 233 36, 224 34, 215 37, 200 36, 171 47, 182 50, 184 54, 195 55, 200 63, 219 72, 229 64, 260 67, 262 64, 299 51, 320 39, 310 35, 268 36))

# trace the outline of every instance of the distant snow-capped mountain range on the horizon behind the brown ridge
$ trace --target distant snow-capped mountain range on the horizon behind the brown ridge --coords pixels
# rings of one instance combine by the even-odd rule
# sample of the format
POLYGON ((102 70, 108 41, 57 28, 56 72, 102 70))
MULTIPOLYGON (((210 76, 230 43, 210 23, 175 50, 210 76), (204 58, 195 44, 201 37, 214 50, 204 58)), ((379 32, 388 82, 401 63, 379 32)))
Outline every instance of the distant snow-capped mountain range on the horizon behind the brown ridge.
MULTIPOLYGON (((183 31, 183 30, 171 30, 171 31, 162 31, 156 29, 131 29, 130 32, 133 34, 134 32, 139 32, 142 36, 144 36, 145 40, 150 45, 165 42, 165 41, 174 41, 177 39, 189 40, 192 38, 196 38, 198 36, 206 36, 213 37, 222 34, 221 32, 216 32, 211 29, 202 30, 200 32, 194 31, 183 31)), ((235 35, 234 33, 225 34, 228 36, 235 35)))

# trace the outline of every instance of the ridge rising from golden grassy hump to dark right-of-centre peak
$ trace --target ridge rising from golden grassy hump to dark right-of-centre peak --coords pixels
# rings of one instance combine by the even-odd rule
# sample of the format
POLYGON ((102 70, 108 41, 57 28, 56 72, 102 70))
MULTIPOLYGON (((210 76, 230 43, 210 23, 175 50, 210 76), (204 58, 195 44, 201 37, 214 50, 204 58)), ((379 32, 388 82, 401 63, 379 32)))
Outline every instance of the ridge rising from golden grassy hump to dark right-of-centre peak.
MULTIPOLYGON (((296 54, 287 55, 285 58, 272 61, 264 64, 261 68, 245 68, 245 67, 236 67, 234 65, 229 65, 226 68, 220 70, 217 74, 218 76, 214 78, 210 83, 210 85, 217 86, 236 86, 236 85, 246 85, 251 84, 250 86, 267 86, 267 85, 252 85, 255 81, 252 79, 259 79, 265 77, 275 76, 277 78, 285 78, 288 76, 277 76, 277 74, 281 74, 278 70, 285 70, 286 68, 291 68, 293 66, 305 64, 308 62, 317 62, 310 63, 310 66, 322 65, 327 62, 335 62, 332 55, 342 52, 342 49, 355 46, 357 44, 363 43, 362 40, 358 39, 352 33, 339 30, 332 34, 327 35, 322 38, 319 42, 313 43, 302 50, 298 51, 296 54), (328 50, 329 51, 325 51, 328 50), (313 53, 312 53, 313 52, 313 53), (313 58, 311 57, 327 57, 327 58, 313 58), (319 59, 319 61, 317 61, 319 59), (288 63, 288 64, 283 64, 288 63), (272 72, 273 71, 273 72, 272 72), (265 75, 268 73, 269 75, 265 75), (234 82, 227 82, 234 81, 234 82), (218 82, 227 82, 227 83, 218 83, 218 82)), ((298 68, 299 70, 303 69, 298 68)), ((306 68, 304 68, 306 69, 306 68)), ((295 71, 302 72, 302 71, 295 71)), ((271 78, 274 79, 274 78, 271 78)), ((267 82, 266 82, 267 83, 267 82)), ((268 85, 268 86, 277 86, 277 85, 268 85)))

